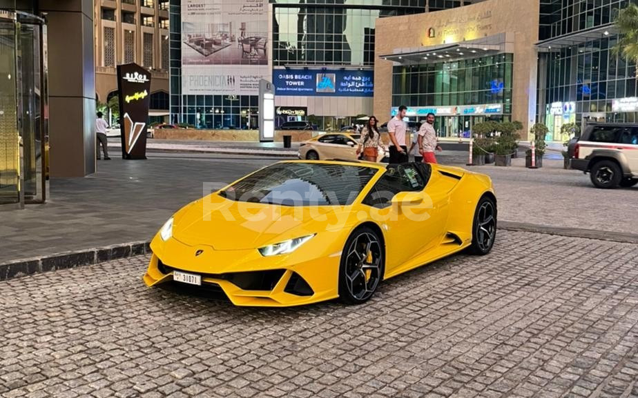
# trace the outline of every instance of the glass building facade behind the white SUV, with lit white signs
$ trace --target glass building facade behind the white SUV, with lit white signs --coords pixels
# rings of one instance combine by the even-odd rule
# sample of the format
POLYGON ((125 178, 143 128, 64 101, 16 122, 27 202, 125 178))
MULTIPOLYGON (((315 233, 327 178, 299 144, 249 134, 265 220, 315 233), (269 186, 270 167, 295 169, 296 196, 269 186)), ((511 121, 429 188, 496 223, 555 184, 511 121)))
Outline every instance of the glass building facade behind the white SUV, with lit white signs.
POLYGON ((565 123, 638 121, 636 63, 611 51, 614 19, 636 0, 541 0, 539 120, 547 139, 565 141, 565 123))

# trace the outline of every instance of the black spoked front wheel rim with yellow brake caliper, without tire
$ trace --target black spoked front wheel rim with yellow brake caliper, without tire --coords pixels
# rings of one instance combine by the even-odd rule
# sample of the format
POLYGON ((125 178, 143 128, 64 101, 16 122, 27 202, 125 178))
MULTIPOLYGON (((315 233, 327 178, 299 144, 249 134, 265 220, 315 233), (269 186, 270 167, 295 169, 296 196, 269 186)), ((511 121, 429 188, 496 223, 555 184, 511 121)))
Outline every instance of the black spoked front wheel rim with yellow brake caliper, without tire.
POLYGON ((350 244, 346 257, 345 281, 350 295, 358 300, 368 299, 380 277, 381 245, 374 235, 360 234, 350 244))

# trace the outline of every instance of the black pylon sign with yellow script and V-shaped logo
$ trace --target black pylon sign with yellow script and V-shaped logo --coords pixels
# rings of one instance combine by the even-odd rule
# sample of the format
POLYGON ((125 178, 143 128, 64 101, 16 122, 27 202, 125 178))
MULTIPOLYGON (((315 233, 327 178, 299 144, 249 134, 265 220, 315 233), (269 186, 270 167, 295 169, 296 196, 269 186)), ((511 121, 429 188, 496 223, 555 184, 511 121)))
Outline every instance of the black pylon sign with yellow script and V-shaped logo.
POLYGON ((117 66, 122 159, 146 159, 151 72, 135 63, 117 66))

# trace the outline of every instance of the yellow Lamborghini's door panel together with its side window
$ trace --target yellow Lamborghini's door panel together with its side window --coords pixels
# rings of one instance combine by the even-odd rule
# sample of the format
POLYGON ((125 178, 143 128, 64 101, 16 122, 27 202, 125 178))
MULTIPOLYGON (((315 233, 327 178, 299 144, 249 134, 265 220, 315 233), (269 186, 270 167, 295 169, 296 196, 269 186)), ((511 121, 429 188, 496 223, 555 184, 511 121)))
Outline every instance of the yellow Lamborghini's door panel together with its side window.
POLYGON ((428 179, 414 164, 392 165, 363 200, 371 208, 371 218, 384 231, 387 277, 418 265, 412 260, 438 246, 445 234, 449 197, 429 197, 428 179), (421 193, 423 202, 400 209, 392 203, 400 192, 421 193))

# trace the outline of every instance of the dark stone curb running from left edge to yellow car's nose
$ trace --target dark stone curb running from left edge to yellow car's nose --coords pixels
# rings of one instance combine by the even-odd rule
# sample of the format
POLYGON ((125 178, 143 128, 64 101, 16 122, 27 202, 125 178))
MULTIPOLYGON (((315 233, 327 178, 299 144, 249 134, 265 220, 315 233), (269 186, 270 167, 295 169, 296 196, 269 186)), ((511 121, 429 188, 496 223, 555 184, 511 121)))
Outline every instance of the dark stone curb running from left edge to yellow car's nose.
POLYGON ((0 264, 0 281, 39 274, 41 272, 65 270, 88 266, 105 261, 151 253, 151 242, 140 241, 88 250, 61 252, 46 257, 14 260, 0 264))

